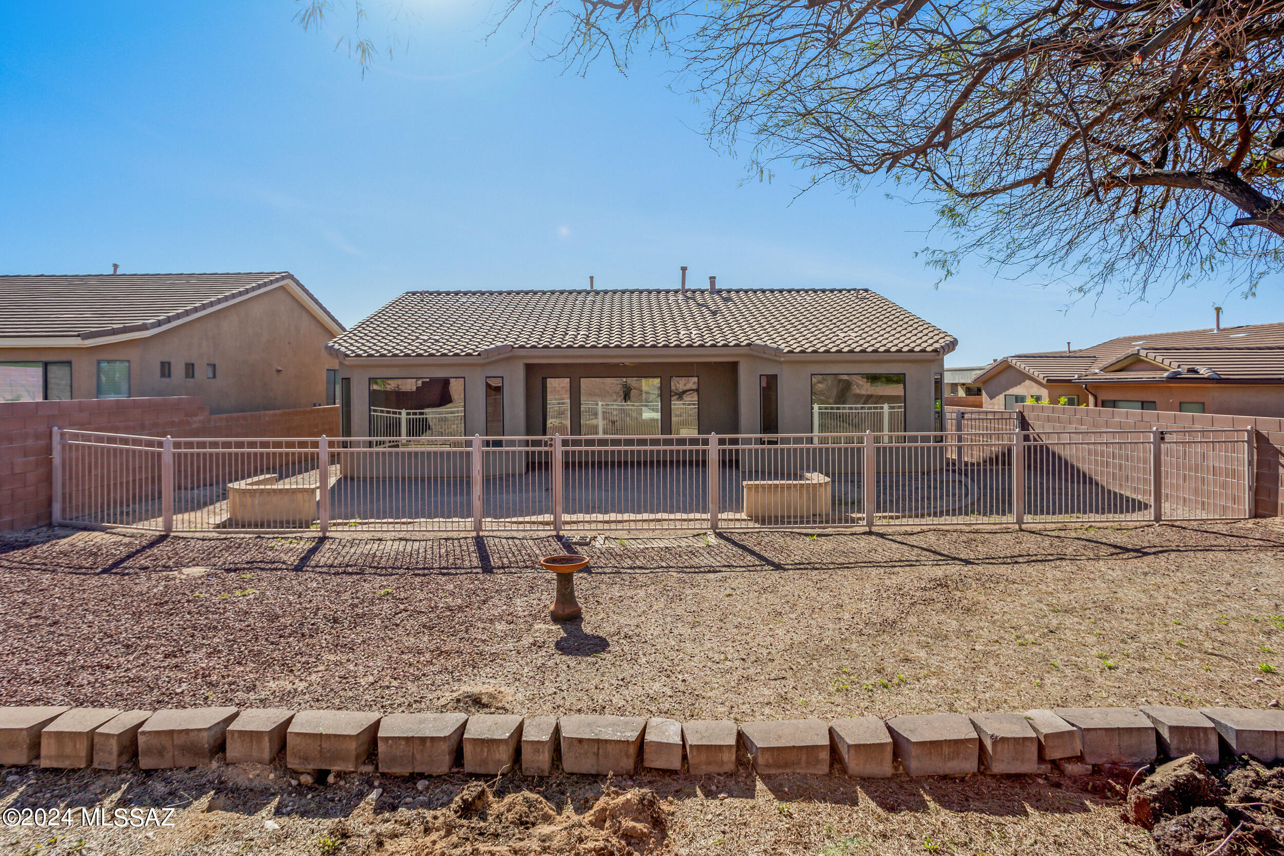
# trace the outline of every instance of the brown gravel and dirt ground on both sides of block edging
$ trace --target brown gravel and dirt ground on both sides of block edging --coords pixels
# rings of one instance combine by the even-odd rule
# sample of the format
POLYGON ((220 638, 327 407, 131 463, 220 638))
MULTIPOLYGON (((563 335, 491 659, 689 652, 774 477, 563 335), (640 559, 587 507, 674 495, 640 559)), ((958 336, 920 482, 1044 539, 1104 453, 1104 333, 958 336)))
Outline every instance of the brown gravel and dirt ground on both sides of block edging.
MULTIPOLYGON (((577 583, 584 620, 557 628, 537 560, 566 548, 521 536, 0 538, 0 703, 749 720, 1262 707, 1284 694, 1275 521, 609 538, 573 548, 591 558, 577 583)), ((40 852, 80 838, 77 852, 103 853, 1152 852, 1097 779, 647 773, 603 796, 587 776, 512 778, 489 809, 461 814, 462 775, 419 791, 374 774, 290 785, 266 769, 4 773, 17 779, 0 807, 184 809, 152 838, 0 828, 0 852, 55 834, 40 852), (654 805, 638 807, 639 788, 654 805), (515 794, 547 798, 555 816, 499 807, 515 794), (634 821, 611 814, 625 803, 650 812, 651 833, 625 834, 634 821), (519 834, 519 815, 543 820, 519 834)))

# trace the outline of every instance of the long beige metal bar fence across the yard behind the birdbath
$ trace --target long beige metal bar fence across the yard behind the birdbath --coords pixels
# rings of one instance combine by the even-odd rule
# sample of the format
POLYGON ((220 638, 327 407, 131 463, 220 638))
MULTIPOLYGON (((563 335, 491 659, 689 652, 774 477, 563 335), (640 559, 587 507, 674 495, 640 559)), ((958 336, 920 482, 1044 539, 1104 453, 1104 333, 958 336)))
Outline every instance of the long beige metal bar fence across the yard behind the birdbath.
POLYGON ((610 531, 1229 520, 1247 431, 169 439, 54 429, 54 520, 610 531))

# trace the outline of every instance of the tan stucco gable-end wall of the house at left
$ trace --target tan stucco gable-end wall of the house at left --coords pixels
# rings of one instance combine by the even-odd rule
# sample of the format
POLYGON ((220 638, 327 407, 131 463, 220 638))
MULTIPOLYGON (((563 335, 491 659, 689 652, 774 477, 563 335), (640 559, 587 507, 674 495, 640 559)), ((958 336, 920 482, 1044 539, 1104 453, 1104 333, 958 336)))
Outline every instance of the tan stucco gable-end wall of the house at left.
POLYGON ((0 348, 0 361, 71 361, 72 397, 98 397, 98 361, 130 361, 131 398, 200 395, 211 413, 311 407, 325 403, 325 370, 336 368, 324 345, 333 338, 277 286, 143 338, 87 348, 0 348), (172 376, 160 377, 168 361, 172 376), (185 380, 184 363, 196 377, 185 380), (205 379, 205 363, 217 377, 205 379), (281 371, 276 371, 280 366, 281 371))

